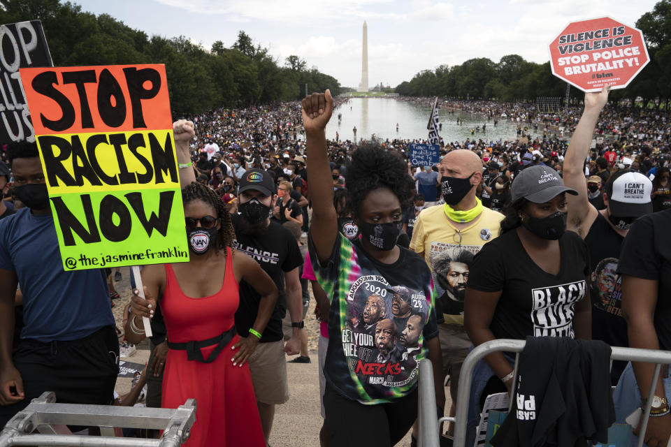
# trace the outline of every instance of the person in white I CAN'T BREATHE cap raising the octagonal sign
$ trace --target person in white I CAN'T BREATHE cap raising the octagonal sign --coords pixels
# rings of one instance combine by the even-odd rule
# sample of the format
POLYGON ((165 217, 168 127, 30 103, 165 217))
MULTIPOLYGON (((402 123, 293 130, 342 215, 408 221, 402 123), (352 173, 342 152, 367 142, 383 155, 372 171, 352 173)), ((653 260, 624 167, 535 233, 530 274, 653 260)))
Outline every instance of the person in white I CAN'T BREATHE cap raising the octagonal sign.
MULTIPOLYGON (((614 272, 620 258, 620 247, 631 223, 652 212, 652 183, 641 173, 621 170, 607 172, 607 160, 599 157, 599 175, 607 179, 603 187, 604 210, 589 202, 584 161, 589 151, 593 129, 608 100, 608 91, 585 94, 585 110, 566 150, 563 164, 564 183, 578 191, 567 196, 566 229, 582 237, 589 250, 592 302, 592 338, 611 346, 628 346, 627 324, 621 309, 621 278, 614 272)), ((591 179, 592 177, 590 177, 591 179)), ((616 385, 625 362, 613 362, 611 382, 616 385)))

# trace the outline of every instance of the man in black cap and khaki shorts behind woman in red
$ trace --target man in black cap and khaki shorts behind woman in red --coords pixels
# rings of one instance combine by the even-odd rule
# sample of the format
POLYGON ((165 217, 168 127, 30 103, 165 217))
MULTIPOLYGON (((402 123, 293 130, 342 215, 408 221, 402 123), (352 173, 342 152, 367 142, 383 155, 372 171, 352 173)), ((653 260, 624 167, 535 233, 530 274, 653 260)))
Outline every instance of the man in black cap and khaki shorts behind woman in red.
MULTIPOLYGON (((270 205, 277 200, 273 177, 263 170, 247 170, 240 179, 239 193, 240 215, 231 216, 236 231, 233 247, 254 258, 275 281, 280 292, 275 311, 270 316, 256 351, 248 360, 267 444, 275 405, 289 400, 284 353, 294 355, 300 351, 303 300, 298 268, 303 265, 303 257, 294 235, 270 219, 270 205), (287 305, 294 333, 282 350, 282 318, 287 305)), ((235 315, 240 337, 254 337, 250 335, 250 328, 257 318, 259 302, 260 296, 254 288, 240 281, 240 304, 235 315)))

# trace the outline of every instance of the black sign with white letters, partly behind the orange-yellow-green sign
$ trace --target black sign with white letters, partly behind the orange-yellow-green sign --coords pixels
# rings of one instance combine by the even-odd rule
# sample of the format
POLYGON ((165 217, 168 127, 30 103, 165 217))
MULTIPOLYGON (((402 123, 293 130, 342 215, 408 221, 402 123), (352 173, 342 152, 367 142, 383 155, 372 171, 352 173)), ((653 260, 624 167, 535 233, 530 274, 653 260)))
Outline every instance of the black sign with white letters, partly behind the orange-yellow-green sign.
POLYGON ((0 25, 0 145, 35 142, 19 68, 52 65, 39 20, 0 25))

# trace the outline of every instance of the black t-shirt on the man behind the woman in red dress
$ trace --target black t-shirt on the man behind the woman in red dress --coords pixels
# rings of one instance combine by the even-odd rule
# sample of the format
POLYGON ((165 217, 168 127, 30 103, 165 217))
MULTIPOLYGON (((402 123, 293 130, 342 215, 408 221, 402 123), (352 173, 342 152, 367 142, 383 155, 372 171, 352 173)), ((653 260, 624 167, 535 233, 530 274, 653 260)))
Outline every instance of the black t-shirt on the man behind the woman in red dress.
MULTIPOLYGON (((236 230, 236 239, 233 248, 242 251, 257 261, 268 276, 273 279, 280 295, 270 321, 266 325, 261 343, 278 342, 282 339, 282 318, 287 314, 287 294, 284 292, 284 273, 303 265, 301 249, 298 248, 296 238, 280 223, 270 221, 270 226, 259 235, 245 235, 239 230, 240 217, 231 216, 233 229, 236 230)), ((236 328, 238 334, 247 337, 250 328, 254 325, 259 312, 261 295, 250 284, 240 281, 240 305, 236 312, 236 328)))

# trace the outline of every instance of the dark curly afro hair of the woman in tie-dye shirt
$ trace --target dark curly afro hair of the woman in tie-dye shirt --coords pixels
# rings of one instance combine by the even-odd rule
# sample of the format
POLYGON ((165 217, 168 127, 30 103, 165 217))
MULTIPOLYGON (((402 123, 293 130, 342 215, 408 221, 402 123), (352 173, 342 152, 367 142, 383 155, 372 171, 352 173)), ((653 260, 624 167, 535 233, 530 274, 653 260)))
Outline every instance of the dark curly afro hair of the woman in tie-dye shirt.
POLYGON ((389 152, 380 145, 364 143, 352 153, 352 160, 346 167, 347 207, 353 214, 359 214, 361 202, 370 191, 380 188, 391 189, 401 202, 401 210, 410 206, 415 193, 414 181, 400 154, 389 152))

